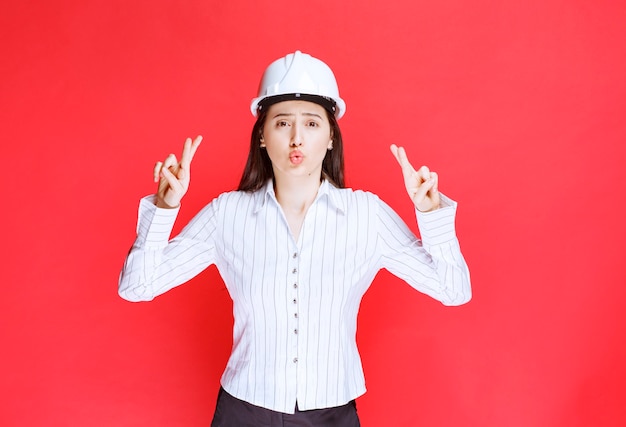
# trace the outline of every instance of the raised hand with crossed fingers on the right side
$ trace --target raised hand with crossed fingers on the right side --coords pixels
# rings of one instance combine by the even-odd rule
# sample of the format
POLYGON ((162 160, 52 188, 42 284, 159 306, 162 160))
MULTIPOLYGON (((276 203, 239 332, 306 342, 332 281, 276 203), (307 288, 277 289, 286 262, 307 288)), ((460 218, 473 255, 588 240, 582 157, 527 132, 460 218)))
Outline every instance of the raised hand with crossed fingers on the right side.
POLYGON ((417 210, 421 212, 429 212, 439 209, 439 177, 436 172, 430 171, 426 166, 422 166, 415 170, 404 148, 391 144, 391 153, 394 155, 404 176, 404 185, 409 197, 417 210))

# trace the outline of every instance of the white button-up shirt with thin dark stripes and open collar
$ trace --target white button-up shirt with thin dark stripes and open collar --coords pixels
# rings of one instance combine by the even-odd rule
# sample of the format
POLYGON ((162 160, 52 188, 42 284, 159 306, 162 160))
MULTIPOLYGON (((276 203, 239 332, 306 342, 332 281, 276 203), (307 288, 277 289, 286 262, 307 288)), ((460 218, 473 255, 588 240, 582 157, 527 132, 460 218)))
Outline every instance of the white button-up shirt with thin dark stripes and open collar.
POLYGON ((372 193, 324 181, 295 241, 271 182, 224 193, 168 242, 177 209, 142 199, 137 239, 119 282, 151 300, 215 264, 233 299, 233 349, 224 389, 293 413, 343 405, 365 392, 356 346, 363 294, 385 268, 445 305, 471 298, 454 228, 456 203, 417 212, 422 240, 372 193))

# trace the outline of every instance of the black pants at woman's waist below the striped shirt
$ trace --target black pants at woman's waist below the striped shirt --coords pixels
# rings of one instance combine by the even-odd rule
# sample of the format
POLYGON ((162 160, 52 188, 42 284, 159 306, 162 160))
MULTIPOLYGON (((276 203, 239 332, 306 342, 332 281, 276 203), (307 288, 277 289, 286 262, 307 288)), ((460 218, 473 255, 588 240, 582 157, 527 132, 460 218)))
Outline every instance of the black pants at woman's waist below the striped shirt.
POLYGON ((252 405, 228 394, 223 388, 211 427, 360 427, 353 401, 343 406, 283 414, 252 405))

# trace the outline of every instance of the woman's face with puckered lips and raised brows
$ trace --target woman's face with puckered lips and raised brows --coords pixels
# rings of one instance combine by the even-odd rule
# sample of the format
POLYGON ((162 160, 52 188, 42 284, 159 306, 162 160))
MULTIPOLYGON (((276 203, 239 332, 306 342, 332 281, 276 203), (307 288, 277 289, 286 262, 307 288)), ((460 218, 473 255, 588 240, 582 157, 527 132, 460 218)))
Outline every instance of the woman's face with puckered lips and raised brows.
POLYGON ((270 106, 261 144, 272 161, 276 178, 319 179, 324 157, 332 148, 326 110, 308 101, 284 101, 270 106))

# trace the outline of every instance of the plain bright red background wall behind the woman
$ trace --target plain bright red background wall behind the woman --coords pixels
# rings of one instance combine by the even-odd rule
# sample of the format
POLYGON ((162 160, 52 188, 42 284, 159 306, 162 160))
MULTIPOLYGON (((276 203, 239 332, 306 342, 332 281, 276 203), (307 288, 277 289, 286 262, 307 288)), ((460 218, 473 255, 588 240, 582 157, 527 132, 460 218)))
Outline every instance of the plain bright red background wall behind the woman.
POLYGON ((623 1, 24 0, 0 36, 1 425, 208 425, 215 269, 147 304, 117 277, 154 162, 204 135, 179 230, 236 186, 260 74, 296 49, 339 80, 348 185, 414 226, 405 145, 472 273, 457 308, 377 277, 363 425, 626 425, 623 1))

